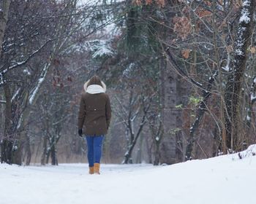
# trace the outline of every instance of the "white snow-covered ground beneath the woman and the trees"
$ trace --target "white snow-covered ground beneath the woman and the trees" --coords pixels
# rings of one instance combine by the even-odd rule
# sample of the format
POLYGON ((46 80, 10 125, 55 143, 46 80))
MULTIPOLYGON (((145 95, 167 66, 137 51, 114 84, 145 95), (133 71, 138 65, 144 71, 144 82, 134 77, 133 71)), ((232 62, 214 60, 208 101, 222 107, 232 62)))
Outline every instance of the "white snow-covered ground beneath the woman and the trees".
POLYGON ((0 165, 1 204, 256 203, 256 147, 176 165, 0 165), (252 149, 254 148, 254 149, 252 149))

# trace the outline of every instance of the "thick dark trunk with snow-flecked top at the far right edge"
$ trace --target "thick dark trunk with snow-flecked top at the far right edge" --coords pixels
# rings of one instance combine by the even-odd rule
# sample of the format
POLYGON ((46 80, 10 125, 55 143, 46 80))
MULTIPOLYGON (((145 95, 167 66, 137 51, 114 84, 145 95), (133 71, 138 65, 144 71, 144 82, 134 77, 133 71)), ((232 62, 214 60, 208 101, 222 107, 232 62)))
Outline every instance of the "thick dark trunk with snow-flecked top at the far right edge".
POLYGON ((228 76, 227 88, 225 91, 225 128, 227 137, 227 148, 231 152, 241 148, 244 142, 241 138, 241 86, 246 67, 246 50, 252 34, 252 17, 255 11, 254 0, 243 2, 241 17, 238 23, 238 30, 235 40, 235 56, 233 69, 228 76))

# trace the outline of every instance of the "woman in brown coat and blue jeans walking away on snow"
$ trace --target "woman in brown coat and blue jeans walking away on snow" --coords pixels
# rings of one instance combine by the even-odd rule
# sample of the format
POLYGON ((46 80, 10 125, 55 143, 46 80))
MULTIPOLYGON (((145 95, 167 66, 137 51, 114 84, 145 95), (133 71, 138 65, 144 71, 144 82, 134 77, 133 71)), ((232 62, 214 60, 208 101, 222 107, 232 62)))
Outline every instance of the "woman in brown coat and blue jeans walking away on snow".
POLYGON ((83 93, 80 101, 78 134, 80 137, 83 137, 83 133, 86 136, 89 173, 99 174, 102 140, 110 125, 110 99, 105 93, 106 85, 99 76, 92 76, 83 87, 86 93, 83 93))

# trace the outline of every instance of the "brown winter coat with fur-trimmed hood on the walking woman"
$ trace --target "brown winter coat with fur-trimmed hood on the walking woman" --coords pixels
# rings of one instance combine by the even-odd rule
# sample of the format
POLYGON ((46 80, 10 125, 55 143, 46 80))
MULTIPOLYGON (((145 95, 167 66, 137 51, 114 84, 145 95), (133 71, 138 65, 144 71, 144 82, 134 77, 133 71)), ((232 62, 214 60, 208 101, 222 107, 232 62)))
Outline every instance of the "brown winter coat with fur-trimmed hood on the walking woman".
MULTIPOLYGON (((105 89, 105 84, 102 83, 105 89)), ((85 90, 87 85, 84 85, 85 90)), ((106 93, 83 93, 78 114, 78 128, 86 136, 100 136, 108 132, 111 119, 110 98, 106 93)))

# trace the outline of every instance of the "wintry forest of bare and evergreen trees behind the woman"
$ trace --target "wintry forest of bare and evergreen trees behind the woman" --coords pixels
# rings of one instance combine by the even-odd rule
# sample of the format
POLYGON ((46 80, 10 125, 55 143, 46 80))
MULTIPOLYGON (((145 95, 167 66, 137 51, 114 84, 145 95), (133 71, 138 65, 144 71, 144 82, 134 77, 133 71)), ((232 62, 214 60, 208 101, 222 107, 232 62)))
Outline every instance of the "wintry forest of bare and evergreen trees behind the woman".
POLYGON ((102 162, 173 164, 255 144, 255 0, 2 0, 1 162, 86 162, 83 83, 107 84, 102 162))

